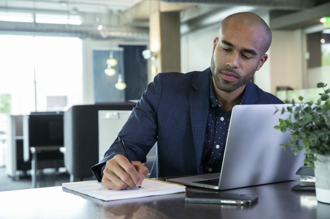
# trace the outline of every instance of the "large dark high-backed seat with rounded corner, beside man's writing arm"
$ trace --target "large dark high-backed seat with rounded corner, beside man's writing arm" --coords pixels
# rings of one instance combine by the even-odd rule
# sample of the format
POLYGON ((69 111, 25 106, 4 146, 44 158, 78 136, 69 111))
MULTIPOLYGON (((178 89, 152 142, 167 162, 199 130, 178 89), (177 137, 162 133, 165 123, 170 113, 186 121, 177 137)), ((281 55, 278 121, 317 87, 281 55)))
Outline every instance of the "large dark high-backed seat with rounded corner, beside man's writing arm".
POLYGON ((134 102, 77 105, 64 113, 64 165, 71 182, 92 177, 90 168, 99 162, 98 111, 133 110, 135 106, 134 102))

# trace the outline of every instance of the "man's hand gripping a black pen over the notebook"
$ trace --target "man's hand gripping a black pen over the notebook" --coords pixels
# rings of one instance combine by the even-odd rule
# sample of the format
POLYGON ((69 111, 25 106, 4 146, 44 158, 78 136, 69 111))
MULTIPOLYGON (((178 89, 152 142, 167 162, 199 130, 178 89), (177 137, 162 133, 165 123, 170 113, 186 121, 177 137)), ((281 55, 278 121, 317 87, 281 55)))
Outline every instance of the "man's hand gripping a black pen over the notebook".
POLYGON ((139 161, 132 161, 132 163, 133 165, 121 154, 108 160, 103 170, 103 187, 122 190, 128 187, 141 186, 149 170, 139 161))

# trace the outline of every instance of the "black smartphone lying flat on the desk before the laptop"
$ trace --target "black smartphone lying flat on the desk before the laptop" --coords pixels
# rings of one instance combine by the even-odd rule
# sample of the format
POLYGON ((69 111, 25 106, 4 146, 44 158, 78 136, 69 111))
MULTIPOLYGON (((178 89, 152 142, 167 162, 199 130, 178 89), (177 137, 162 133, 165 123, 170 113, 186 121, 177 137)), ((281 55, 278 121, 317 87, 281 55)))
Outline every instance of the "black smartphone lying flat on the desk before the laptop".
POLYGON ((208 193, 198 192, 187 194, 184 199, 187 203, 210 203, 210 204, 236 204, 252 205, 257 202, 258 196, 235 193, 208 193))

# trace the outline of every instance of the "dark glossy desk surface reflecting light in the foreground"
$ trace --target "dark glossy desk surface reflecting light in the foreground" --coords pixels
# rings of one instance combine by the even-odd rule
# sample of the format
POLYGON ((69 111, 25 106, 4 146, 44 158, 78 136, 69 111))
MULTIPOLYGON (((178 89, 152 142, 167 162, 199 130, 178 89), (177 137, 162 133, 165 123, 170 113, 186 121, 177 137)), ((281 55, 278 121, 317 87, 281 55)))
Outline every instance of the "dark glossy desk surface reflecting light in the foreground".
MULTIPOLYGON (((223 193, 256 194, 252 206, 185 203, 186 193, 104 202, 62 187, 0 192, 0 218, 274 218, 329 219, 330 204, 315 192, 292 191, 296 181, 251 186, 223 193)), ((215 190, 187 187, 187 193, 215 190)))

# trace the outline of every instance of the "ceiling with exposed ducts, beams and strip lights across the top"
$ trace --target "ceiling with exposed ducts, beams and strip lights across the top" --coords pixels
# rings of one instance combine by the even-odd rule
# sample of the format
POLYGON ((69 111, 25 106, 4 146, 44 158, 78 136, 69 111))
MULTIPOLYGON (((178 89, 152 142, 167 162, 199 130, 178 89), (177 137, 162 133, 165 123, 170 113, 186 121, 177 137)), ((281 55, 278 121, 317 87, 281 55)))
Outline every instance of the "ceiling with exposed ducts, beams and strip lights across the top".
POLYGON ((56 33, 81 38, 147 40, 151 2, 159 2, 161 12, 182 11, 181 34, 216 24, 238 8, 248 8, 240 10, 251 12, 270 11, 272 29, 303 28, 319 24, 322 16, 330 16, 330 0, 0 0, 0 13, 76 14, 83 17, 83 24, 79 26, 1 21, 0 30, 6 34, 56 33), (98 17, 112 25, 97 32, 95 20, 98 17), (112 22, 114 20, 117 21, 112 22))

